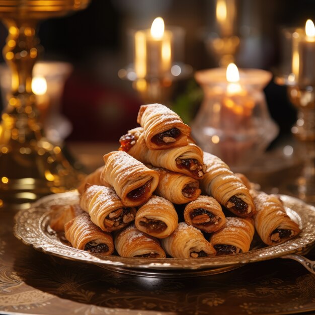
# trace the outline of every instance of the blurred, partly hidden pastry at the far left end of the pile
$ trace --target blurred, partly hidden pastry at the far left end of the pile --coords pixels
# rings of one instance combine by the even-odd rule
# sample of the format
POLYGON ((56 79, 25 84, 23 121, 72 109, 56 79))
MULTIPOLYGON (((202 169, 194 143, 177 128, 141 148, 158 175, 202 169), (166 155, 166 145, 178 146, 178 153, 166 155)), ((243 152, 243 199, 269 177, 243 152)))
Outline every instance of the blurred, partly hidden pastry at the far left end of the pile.
POLYGON ((64 231, 65 223, 84 212, 79 204, 57 205, 51 208, 53 211, 50 216, 49 225, 57 232, 64 231))

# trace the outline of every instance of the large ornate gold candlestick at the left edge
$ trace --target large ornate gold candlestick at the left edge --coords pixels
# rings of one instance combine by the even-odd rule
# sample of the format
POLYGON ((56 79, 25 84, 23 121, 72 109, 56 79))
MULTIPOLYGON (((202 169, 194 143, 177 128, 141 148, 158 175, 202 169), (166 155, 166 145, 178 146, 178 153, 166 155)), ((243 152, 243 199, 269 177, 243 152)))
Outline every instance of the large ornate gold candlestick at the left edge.
POLYGON ((0 206, 27 207, 43 195, 76 187, 83 177, 61 147, 44 137, 31 83, 38 57, 38 22, 88 4, 89 0, 0 0, 0 19, 9 31, 3 54, 12 72, 12 89, 0 125, 0 206))

